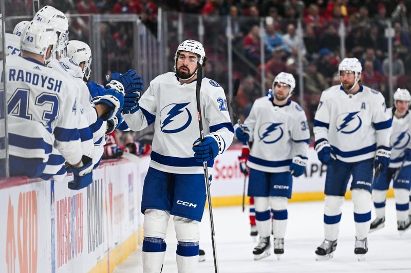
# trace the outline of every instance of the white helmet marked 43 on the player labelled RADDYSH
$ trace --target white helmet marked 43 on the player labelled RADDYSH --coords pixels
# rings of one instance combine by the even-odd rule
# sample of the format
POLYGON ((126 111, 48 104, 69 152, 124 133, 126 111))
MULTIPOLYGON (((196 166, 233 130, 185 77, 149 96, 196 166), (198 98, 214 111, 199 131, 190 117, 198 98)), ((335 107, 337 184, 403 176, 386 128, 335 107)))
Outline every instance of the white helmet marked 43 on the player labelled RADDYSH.
POLYGON ((42 22, 31 21, 20 36, 20 50, 43 56, 45 65, 53 58, 57 49, 57 34, 52 26, 42 22), (47 57, 47 49, 52 46, 47 57))

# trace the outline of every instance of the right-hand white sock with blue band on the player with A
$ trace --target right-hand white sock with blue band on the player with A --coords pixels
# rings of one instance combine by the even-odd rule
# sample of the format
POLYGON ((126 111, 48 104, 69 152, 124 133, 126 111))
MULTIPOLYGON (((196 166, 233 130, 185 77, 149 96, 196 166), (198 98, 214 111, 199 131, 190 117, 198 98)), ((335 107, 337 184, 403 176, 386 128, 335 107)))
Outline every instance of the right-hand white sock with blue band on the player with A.
POLYGON ((357 239, 364 239, 368 236, 371 222, 371 194, 362 189, 351 191, 354 202, 354 222, 356 223, 357 239))

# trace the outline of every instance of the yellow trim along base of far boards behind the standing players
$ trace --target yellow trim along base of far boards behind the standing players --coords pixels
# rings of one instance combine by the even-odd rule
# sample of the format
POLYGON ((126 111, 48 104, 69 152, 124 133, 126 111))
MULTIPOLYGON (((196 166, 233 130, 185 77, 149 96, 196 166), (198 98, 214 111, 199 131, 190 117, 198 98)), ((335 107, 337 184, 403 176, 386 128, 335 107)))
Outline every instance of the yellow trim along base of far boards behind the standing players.
MULTIPOLYGON (((307 201, 322 201, 324 200, 323 192, 305 192, 305 193, 293 193, 289 202, 307 202, 307 201)), ((394 197, 394 190, 390 188, 387 192, 387 197, 394 197)), ((351 199, 351 191, 347 191, 345 194, 345 199, 351 199)), ((242 204, 242 196, 223 196, 223 197, 212 197, 211 204, 213 207, 219 206, 239 206, 242 204)), ((249 204, 249 198, 246 196, 245 204, 249 204)), ((207 203, 206 203, 207 207, 207 203)))

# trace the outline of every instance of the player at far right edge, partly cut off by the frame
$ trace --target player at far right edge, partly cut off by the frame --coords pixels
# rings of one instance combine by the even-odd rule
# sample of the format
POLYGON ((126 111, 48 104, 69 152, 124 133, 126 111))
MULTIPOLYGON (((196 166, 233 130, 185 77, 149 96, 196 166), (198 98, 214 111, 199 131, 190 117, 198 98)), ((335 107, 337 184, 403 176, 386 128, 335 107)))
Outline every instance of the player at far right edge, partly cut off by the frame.
POLYGON ((397 229, 400 234, 411 226, 409 212, 409 190, 411 180, 411 115, 409 102, 411 95, 406 89, 394 93, 395 107, 388 109, 393 119, 390 136, 391 157, 387 170, 381 172, 378 180, 373 181, 372 196, 377 218, 370 225, 370 232, 384 227, 385 199, 388 186, 393 180, 394 197, 397 209, 397 229))

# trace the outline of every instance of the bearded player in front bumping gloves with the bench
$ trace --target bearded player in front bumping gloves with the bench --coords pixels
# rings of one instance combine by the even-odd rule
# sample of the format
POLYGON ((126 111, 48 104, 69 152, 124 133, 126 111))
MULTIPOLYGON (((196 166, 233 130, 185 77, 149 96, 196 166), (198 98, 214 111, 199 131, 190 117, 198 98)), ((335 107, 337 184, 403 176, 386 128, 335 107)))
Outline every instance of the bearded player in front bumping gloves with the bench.
POLYGON ((161 271, 170 215, 174 215, 178 240, 178 272, 196 270, 198 222, 206 202, 202 162, 208 162, 211 172, 214 158, 230 146, 234 133, 224 90, 204 77, 200 102, 205 137, 203 142, 199 141, 197 60, 204 66, 207 57, 198 41, 185 40, 178 46, 174 60, 175 73, 157 76, 139 105, 123 110, 123 118, 133 131, 154 122, 153 150, 141 201, 144 273, 161 271))

